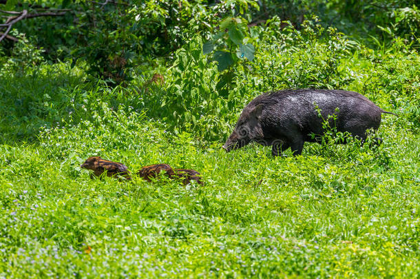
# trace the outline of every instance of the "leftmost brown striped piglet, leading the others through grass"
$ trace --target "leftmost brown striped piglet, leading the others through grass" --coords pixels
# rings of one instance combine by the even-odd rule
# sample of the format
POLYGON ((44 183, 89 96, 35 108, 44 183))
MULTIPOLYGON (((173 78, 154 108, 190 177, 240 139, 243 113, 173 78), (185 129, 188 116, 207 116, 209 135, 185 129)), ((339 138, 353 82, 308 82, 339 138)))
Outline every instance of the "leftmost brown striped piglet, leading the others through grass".
POLYGON ((91 169, 94 171, 94 176, 101 176, 106 172, 107 176, 115 177, 119 176, 120 178, 125 178, 131 180, 130 173, 125 165, 122 163, 116 163, 112 161, 104 160, 99 156, 89 157, 81 165, 82 169, 91 169))

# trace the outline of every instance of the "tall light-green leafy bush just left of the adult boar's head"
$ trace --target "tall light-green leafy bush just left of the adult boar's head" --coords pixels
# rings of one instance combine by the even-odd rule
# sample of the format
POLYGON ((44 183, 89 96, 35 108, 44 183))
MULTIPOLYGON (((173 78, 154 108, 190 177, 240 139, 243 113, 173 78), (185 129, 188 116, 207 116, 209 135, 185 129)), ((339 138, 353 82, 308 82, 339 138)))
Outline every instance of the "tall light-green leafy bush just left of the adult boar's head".
POLYGON ((202 40, 197 37, 175 53, 171 67, 172 80, 167 84, 160 107, 152 115, 165 111, 168 123, 179 130, 191 130, 198 138, 214 140, 220 131, 227 132, 228 102, 216 86, 219 72, 215 63, 207 63, 202 54, 202 40))

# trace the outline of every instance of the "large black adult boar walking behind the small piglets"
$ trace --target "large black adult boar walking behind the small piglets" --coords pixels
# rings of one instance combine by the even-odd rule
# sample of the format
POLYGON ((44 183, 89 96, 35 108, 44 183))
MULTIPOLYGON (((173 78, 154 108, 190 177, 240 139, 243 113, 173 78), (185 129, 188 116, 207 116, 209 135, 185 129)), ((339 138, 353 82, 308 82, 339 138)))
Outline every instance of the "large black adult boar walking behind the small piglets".
POLYGON ((357 92, 297 89, 264 93, 242 110, 223 148, 230 152, 256 141, 272 145, 273 156, 289 147, 293 155, 300 155, 305 141, 319 142, 325 132, 324 119, 333 114, 337 118, 329 120, 331 127, 335 125, 337 132, 349 132, 364 142, 366 130, 379 128, 382 113, 392 114, 357 92))

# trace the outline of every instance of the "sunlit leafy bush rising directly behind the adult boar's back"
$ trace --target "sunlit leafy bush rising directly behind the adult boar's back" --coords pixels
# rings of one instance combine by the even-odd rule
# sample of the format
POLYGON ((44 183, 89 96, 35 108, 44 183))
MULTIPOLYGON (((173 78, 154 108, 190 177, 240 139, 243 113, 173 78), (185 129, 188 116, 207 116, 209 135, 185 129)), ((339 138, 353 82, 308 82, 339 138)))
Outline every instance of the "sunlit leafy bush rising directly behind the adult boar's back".
POLYGON ((316 18, 304 21, 302 30, 281 25, 280 19, 274 18, 260 33, 260 48, 253 65, 262 84, 269 86, 266 89, 338 89, 352 81, 340 64, 357 48, 357 43, 345 39, 334 28, 325 30, 316 18))

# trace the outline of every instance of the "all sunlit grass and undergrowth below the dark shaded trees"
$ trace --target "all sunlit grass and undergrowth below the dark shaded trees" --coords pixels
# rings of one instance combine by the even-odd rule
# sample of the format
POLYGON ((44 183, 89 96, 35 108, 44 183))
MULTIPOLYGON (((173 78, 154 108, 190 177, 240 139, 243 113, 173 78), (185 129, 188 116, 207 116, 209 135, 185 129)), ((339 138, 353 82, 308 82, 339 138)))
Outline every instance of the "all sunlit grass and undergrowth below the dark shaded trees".
POLYGON ((419 277, 419 54, 299 38, 258 48, 226 96, 197 41, 165 85, 147 87, 150 72, 112 89, 70 63, 0 71, 0 278, 419 277), (285 87, 354 90, 399 116, 383 116, 372 149, 225 153, 246 102, 285 87), (80 165, 95 155, 205 184, 92 180, 80 165))

